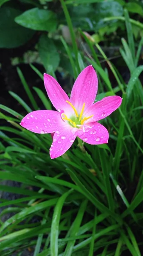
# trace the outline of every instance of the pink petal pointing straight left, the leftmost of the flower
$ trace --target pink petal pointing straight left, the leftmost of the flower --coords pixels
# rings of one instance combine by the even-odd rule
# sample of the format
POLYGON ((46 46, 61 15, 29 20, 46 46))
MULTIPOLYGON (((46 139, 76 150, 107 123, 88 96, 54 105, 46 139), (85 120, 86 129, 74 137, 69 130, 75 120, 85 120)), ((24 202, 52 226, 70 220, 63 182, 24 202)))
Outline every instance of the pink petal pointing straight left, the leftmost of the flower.
POLYGON ((60 113, 53 110, 37 110, 26 115, 20 125, 38 134, 52 133, 64 125, 60 113))

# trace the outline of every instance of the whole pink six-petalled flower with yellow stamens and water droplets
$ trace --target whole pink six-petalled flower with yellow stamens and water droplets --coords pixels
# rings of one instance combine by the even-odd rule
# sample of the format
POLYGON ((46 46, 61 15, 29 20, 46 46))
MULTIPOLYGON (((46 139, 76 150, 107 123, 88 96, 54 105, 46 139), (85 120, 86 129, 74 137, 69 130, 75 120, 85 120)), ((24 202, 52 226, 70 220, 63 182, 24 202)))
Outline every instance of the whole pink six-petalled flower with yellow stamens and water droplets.
POLYGON ((20 125, 39 134, 54 133, 50 147, 52 159, 64 154, 77 136, 92 145, 108 143, 108 131, 98 121, 119 108, 122 99, 109 96, 94 103, 98 79, 91 65, 79 74, 70 99, 52 76, 44 74, 44 83, 57 111, 33 111, 22 119, 20 125))

